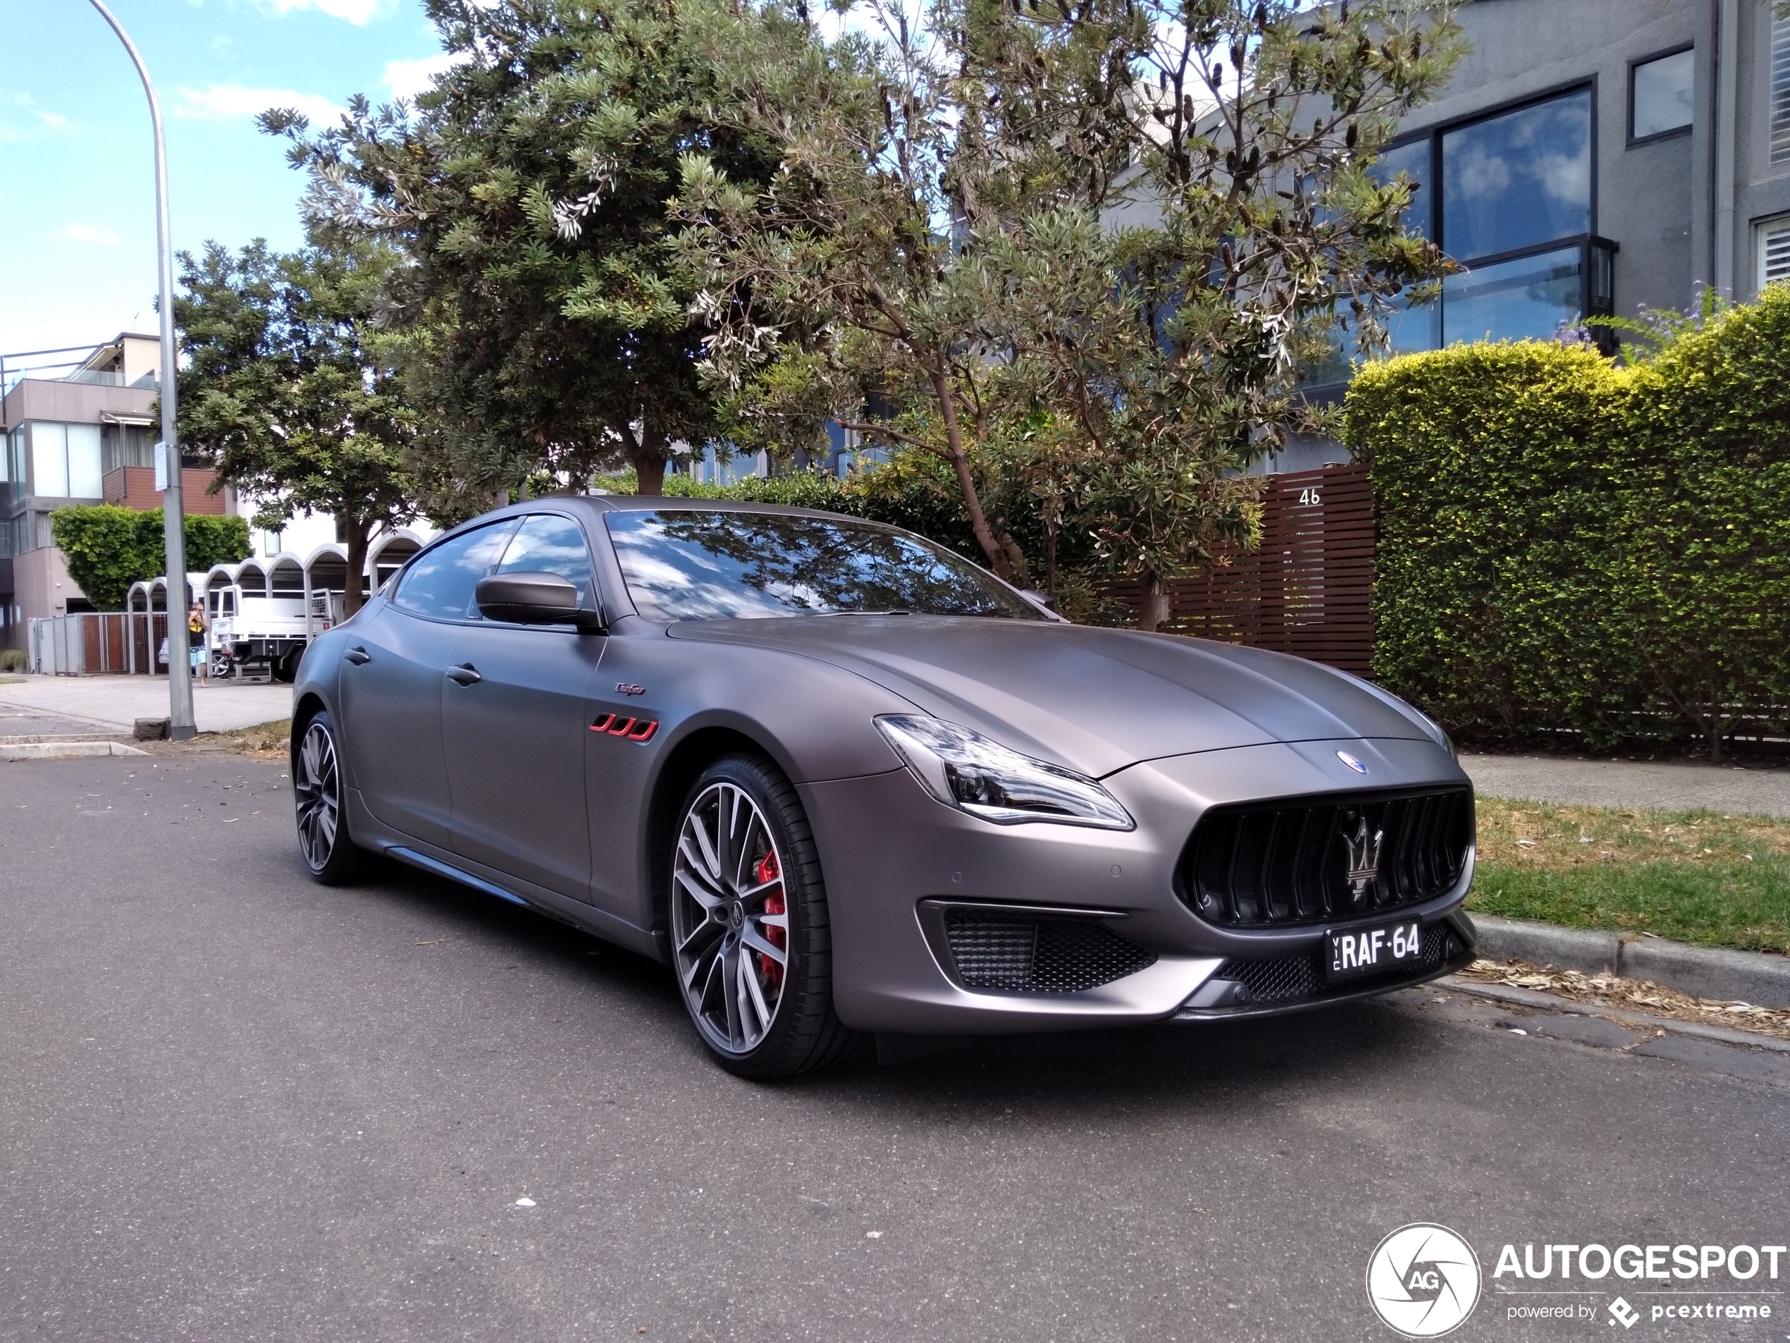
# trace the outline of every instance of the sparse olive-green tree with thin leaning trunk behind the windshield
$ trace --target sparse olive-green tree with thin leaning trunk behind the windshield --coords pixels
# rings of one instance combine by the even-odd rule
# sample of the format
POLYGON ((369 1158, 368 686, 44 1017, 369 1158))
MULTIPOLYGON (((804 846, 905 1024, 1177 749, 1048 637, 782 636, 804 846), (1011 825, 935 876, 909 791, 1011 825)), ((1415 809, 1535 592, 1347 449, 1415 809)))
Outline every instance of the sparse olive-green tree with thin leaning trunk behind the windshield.
POLYGON ((1011 355, 988 326, 983 242, 1122 170, 1124 54, 1144 34, 1135 9, 1099 0, 1054 23, 983 0, 942 0, 929 21, 868 0, 850 18, 834 41, 802 5, 711 21, 727 75, 714 118, 780 163, 757 186, 684 158, 673 208, 709 369, 766 446, 807 446, 802 426, 813 439, 832 412, 940 457, 988 562, 1024 580, 977 482, 1011 355))

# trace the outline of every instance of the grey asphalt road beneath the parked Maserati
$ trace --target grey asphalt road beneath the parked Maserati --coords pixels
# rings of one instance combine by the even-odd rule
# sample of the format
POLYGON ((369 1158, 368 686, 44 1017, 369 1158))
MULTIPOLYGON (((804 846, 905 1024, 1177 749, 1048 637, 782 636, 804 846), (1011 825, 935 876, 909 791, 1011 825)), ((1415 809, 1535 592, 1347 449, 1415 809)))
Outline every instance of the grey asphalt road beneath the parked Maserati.
MULTIPOLYGON (((655 965, 313 886, 281 775, 0 765, 0 1339, 1387 1339, 1409 1221, 1487 1289, 1507 1241, 1790 1232, 1763 1056, 1436 990, 737 1082, 655 965)), ((1783 1338, 1769 1300, 1632 1336, 1783 1338)), ((1455 1338, 1611 1330, 1487 1298, 1455 1338)))

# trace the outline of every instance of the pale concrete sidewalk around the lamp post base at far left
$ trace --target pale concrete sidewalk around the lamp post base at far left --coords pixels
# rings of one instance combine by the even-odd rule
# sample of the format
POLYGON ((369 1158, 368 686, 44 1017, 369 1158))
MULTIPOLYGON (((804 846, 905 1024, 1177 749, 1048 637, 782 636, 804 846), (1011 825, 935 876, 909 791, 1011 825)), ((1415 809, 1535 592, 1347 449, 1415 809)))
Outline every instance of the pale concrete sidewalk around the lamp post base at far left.
MULTIPOLYGON (((193 684, 200 732, 254 727, 292 713, 292 686, 193 684)), ((166 677, 25 677, 0 684, 0 736, 116 736, 168 716, 166 677)))

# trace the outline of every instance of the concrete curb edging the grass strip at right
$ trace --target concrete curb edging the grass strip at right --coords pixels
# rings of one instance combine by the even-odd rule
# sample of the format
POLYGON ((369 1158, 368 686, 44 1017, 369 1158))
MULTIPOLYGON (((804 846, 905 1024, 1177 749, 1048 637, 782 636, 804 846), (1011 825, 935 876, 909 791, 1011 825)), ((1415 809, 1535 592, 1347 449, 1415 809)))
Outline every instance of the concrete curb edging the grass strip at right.
POLYGON ((1486 960, 1527 960, 1586 974, 1607 971, 1697 997, 1790 1008, 1790 956, 1692 947, 1666 938, 1556 928, 1489 913, 1473 915, 1473 926, 1479 929, 1479 954, 1486 960))

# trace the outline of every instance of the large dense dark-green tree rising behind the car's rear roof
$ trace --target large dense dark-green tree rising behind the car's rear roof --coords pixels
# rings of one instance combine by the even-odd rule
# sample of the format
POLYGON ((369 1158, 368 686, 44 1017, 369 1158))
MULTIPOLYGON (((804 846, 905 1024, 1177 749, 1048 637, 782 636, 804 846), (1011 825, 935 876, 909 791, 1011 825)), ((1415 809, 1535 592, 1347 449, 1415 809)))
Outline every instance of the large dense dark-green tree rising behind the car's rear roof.
POLYGON ((356 98, 311 134, 265 118, 311 174, 329 236, 413 258, 394 329, 453 475, 508 489, 618 460, 657 494, 675 444, 716 428, 664 199, 700 147, 743 179, 775 159, 703 115, 714 73, 673 0, 430 0, 465 59, 417 107, 356 98))

